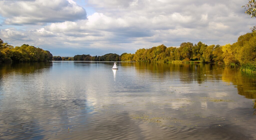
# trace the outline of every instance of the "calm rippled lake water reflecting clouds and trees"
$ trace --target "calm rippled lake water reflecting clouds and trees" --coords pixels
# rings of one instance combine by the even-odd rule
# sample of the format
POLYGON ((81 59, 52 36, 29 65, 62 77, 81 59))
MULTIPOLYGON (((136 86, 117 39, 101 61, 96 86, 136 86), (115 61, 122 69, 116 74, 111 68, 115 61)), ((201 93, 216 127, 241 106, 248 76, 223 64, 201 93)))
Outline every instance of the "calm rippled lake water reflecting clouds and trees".
POLYGON ((0 139, 256 139, 255 75, 217 64, 112 66, 0 63, 0 139))

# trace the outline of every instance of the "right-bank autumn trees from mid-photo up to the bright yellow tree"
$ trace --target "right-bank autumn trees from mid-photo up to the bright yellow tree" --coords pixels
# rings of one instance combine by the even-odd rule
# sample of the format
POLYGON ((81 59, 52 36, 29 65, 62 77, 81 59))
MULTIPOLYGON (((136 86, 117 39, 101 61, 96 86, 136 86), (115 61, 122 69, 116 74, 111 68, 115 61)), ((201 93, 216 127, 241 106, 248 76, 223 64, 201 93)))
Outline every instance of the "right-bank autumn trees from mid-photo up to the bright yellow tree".
POLYGON ((149 49, 138 49, 135 54, 123 53, 121 61, 143 62, 171 62, 173 60, 200 61, 200 62, 223 62, 222 47, 220 45, 206 45, 198 42, 180 44, 179 48, 166 47, 163 44, 149 49))

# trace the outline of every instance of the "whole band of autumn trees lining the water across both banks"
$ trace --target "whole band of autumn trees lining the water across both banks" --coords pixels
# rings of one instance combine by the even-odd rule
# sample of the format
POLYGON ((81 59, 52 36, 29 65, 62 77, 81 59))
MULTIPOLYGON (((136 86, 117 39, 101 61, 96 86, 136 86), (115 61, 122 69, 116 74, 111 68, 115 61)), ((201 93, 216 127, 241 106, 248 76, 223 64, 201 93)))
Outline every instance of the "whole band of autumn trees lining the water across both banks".
POLYGON ((0 39, 0 61, 143 61, 143 62, 172 62, 194 61, 224 63, 237 65, 242 71, 256 72, 256 32, 241 35, 232 45, 206 45, 199 41, 196 44, 183 42, 179 47, 166 47, 163 44, 149 49, 138 49, 134 54, 108 53, 103 56, 75 55, 74 57, 52 56, 41 48, 23 44, 13 47, 0 39))

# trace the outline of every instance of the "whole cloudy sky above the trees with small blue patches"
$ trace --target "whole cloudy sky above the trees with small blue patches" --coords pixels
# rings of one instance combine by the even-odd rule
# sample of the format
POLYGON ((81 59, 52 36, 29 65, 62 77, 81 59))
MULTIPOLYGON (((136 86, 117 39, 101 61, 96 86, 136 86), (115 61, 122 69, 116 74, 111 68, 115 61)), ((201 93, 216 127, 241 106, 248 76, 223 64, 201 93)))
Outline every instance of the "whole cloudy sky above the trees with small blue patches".
POLYGON ((233 44, 256 18, 247 0, 0 0, 0 38, 54 56, 135 53, 182 42, 233 44))

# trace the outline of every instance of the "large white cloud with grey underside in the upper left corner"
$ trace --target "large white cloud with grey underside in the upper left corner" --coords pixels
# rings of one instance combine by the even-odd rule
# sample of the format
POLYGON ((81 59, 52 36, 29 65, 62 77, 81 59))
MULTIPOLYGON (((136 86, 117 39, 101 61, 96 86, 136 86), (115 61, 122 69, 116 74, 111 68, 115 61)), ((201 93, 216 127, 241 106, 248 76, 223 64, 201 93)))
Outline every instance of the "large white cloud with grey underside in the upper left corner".
POLYGON ((86 19, 86 11, 72 0, 0 1, 5 24, 39 24, 86 19))

